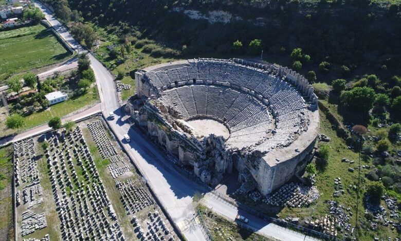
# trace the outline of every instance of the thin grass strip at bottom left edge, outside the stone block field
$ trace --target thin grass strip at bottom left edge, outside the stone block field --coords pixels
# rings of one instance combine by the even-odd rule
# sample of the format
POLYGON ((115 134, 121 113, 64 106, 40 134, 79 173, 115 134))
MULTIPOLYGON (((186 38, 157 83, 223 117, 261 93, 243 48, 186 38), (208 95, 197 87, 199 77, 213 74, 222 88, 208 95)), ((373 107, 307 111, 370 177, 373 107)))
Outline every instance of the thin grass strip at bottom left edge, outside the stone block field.
POLYGON ((12 145, 0 149, 0 240, 14 239, 11 177, 12 145))

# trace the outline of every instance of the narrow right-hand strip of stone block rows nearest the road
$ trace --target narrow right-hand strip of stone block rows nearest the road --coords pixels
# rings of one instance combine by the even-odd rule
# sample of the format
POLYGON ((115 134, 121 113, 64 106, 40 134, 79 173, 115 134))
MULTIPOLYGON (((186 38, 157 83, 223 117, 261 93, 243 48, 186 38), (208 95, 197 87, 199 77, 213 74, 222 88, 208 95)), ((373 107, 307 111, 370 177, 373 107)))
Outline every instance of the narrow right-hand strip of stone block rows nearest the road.
POLYGON ((135 236, 140 240, 174 240, 177 239, 171 224, 156 205, 148 188, 139 175, 133 173, 132 164, 113 140, 108 137, 101 121, 87 124, 102 158, 110 160, 107 170, 114 179, 120 193, 120 201, 125 214, 129 216, 135 236))

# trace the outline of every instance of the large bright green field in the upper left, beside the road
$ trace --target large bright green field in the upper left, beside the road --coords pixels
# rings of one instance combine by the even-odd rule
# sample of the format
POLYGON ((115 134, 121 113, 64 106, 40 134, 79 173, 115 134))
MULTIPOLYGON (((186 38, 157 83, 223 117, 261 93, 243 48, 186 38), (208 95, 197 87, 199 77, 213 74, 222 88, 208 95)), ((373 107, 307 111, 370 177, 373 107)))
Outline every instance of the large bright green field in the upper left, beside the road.
POLYGON ((51 31, 43 25, 0 33, 0 78, 54 64, 71 56, 51 31))

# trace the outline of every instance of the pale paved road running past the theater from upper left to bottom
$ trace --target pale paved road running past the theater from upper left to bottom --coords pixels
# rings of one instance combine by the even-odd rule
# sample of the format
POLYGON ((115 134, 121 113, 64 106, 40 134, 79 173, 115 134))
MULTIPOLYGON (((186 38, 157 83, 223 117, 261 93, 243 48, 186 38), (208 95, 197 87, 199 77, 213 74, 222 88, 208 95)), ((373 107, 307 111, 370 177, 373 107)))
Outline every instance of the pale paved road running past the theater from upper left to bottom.
MULTIPOLYGON (((82 52, 83 48, 75 41, 68 31, 51 15, 51 12, 40 4, 38 7, 45 13, 47 20, 55 26, 60 35, 65 38, 74 49, 82 52)), ((119 108, 120 104, 114 84, 113 75, 99 62, 95 57, 89 54, 91 66, 94 69, 96 82, 99 89, 101 99, 101 111, 104 116, 108 117, 108 113, 113 111, 117 116, 113 121, 108 120, 113 132, 130 157, 134 160, 135 165, 139 168, 144 178, 147 179, 154 193, 157 195, 162 206, 167 210, 173 221, 177 224, 181 232, 188 240, 205 240, 202 230, 196 222, 193 222, 194 207, 192 197, 196 191, 208 192, 204 186, 200 186, 176 172, 170 165, 169 161, 161 154, 153 143, 132 127, 128 116, 119 108), (131 137, 131 143, 123 140, 123 135, 128 133, 131 137)), ((258 233, 271 236, 281 240, 313 240, 305 237, 302 233, 267 223, 266 221, 238 210, 236 207, 230 206, 214 195, 207 194, 203 201, 209 208, 213 209, 227 218, 234 220, 237 213, 246 216, 249 219, 248 225, 258 233)))

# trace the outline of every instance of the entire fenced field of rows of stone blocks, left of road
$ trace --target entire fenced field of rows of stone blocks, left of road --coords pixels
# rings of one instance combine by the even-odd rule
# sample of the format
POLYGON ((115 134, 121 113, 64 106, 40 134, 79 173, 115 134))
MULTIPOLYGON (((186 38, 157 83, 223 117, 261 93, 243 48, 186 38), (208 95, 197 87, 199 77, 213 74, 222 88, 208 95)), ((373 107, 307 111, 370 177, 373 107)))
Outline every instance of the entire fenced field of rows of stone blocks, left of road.
POLYGON ((143 179, 99 119, 79 123, 69 132, 53 131, 15 143, 14 179, 17 240, 177 239, 143 179), (42 150, 44 142, 49 145, 42 150), (102 172, 112 185, 100 175, 87 142, 95 143, 101 159, 110 162, 102 172), (120 196, 110 198, 107 193, 120 196), (118 213, 113 202, 123 211, 118 213), (55 218, 49 222, 52 212, 55 218), (126 220, 128 230, 120 226, 126 220), (48 230, 56 230, 56 235, 49 236, 48 230))

